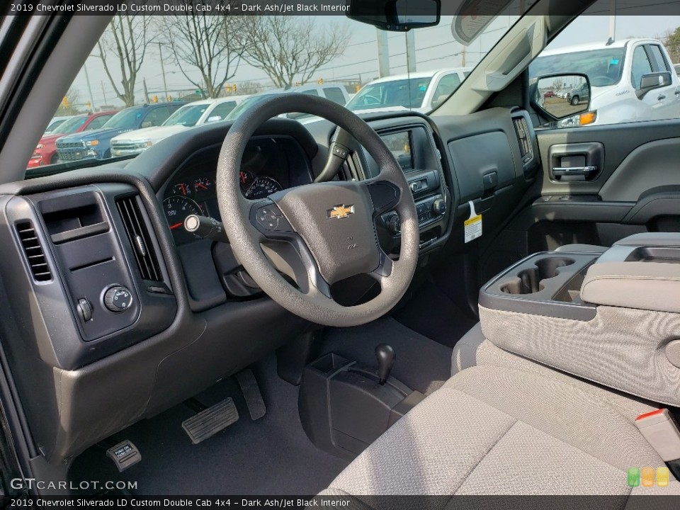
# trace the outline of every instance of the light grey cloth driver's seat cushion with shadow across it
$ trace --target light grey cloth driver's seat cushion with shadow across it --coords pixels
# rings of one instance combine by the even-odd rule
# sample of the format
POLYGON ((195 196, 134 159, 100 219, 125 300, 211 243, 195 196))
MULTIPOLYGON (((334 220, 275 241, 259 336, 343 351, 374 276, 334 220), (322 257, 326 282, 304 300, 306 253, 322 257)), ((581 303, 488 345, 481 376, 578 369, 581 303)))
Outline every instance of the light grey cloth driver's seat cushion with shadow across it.
MULTIPOLYGON (((624 414, 564 380, 496 365, 467 368, 322 494, 627 495, 628 467, 664 462, 624 414)), ((680 484, 657 491, 680 494, 680 484)))

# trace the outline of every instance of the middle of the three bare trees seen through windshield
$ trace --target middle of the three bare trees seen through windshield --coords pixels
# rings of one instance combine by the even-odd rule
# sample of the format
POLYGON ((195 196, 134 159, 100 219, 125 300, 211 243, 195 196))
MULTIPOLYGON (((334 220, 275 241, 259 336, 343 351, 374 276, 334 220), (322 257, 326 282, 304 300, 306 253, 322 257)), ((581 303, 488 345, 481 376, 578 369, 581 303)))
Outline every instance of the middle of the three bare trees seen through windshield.
POLYGON ((165 16, 163 39, 184 77, 197 89, 205 87, 208 97, 216 98, 236 74, 243 55, 242 40, 229 36, 239 30, 237 16, 198 11, 201 1, 188 0, 193 6, 189 13, 165 16), (202 81, 191 77, 187 67, 198 69, 202 81))

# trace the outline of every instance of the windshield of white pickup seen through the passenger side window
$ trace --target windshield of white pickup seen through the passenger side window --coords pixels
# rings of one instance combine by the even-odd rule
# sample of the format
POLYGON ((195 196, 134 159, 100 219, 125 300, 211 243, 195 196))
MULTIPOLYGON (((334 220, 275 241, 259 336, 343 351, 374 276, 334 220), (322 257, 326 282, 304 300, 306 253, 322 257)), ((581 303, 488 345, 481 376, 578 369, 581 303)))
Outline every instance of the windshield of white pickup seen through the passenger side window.
POLYGON ((534 60, 529 66, 529 76, 538 77, 555 72, 555 69, 569 69, 570 72, 586 74, 592 86, 616 85, 621 81, 624 48, 579 52, 565 48, 562 51, 534 60))

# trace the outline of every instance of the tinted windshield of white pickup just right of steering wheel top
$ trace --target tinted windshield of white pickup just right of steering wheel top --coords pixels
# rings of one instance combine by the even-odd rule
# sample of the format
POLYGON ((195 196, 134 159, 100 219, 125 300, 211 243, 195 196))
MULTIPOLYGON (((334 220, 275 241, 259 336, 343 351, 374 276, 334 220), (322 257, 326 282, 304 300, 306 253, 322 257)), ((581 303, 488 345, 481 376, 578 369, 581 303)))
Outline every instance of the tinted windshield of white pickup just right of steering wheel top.
POLYGON ((368 84, 347 103, 347 108, 352 111, 368 108, 421 108, 431 81, 431 77, 425 77, 368 84))

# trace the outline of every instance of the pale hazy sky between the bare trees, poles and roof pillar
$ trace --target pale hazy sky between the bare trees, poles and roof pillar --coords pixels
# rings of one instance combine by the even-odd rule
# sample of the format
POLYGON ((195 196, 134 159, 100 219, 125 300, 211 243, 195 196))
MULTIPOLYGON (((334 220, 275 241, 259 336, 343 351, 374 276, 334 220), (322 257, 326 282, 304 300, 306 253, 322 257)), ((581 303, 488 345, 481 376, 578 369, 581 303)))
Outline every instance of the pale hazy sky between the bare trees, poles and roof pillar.
MULTIPOLYGON (((625 8, 622 12, 628 14, 625 8)), ((442 16, 438 26, 414 30, 417 71, 461 66, 464 48, 463 45, 455 41, 451 34, 452 19, 452 16, 442 16)), ((477 40, 472 41, 470 46, 465 48, 465 64, 473 66, 479 62, 480 57, 483 57, 496 44, 516 19, 516 15, 504 15, 496 18, 487 27, 485 33, 482 33, 477 40)), ((314 23, 319 30, 329 30, 333 25, 347 25, 351 30, 350 42, 346 46, 344 54, 319 69, 314 75, 314 80, 319 78, 324 79, 324 82, 356 80, 365 84, 371 79, 379 77, 377 34, 373 26, 351 21, 345 16, 317 16, 314 18, 314 23)), ((616 16, 615 33, 617 39, 628 37, 660 38, 667 30, 675 30, 679 26, 680 16, 616 16)), ((565 47, 583 42, 604 42, 609 37, 609 30, 609 16, 581 16, 565 28, 553 40, 550 47, 565 47)), ((406 36, 403 33, 388 33, 387 41, 390 52, 390 74, 407 72, 406 36)), ((179 67, 171 59, 169 51, 164 50, 164 57, 166 83, 170 94, 172 95, 172 91, 179 89, 195 89, 196 87, 191 85, 181 74, 179 67)), ((86 62, 86 67, 95 107, 106 103, 120 108, 123 103, 115 98, 113 87, 104 73, 100 60, 91 56, 86 62)), ((115 62, 111 67, 112 72, 115 73, 118 63, 115 62)), ((190 74, 196 76, 198 80, 198 72, 190 74)), ((154 94, 163 95, 162 67, 158 46, 155 44, 149 46, 142 71, 137 79, 135 90, 138 103, 144 101, 142 79, 146 79, 150 96, 154 94)), ((237 84, 243 81, 259 81, 262 84, 270 84, 268 77, 261 69, 252 67, 245 62, 239 65, 236 76, 229 81, 237 84)), ((84 69, 79 72, 72 88, 79 91, 81 103, 89 99, 84 69)))

